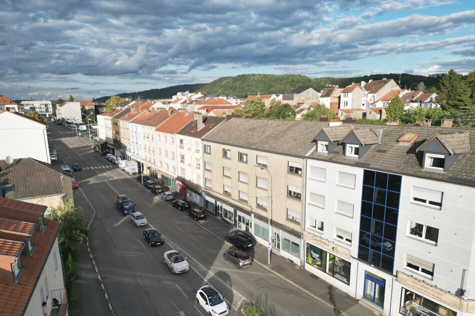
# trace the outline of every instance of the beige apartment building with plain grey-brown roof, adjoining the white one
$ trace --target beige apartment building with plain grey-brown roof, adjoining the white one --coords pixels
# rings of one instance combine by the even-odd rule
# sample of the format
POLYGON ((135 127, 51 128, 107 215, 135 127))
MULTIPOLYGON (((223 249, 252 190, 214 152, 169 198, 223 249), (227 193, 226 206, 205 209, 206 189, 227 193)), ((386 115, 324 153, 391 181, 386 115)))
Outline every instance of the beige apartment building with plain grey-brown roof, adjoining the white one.
POLYGON ((301 264, 305 157, 328 122, 232 118, 203 141, 205 209, 301 264))

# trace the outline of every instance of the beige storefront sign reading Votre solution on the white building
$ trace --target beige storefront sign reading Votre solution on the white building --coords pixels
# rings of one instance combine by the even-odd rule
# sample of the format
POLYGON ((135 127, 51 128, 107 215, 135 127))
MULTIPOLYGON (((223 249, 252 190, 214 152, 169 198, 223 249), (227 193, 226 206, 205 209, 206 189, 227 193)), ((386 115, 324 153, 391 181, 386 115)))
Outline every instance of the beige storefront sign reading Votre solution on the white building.
POLYGON ((444 290, 436 288, 430 284, 419 281, 407 274, 398 271, 398 283, 406 285, 407 287, 416 290, 428 298, 433 298, 447 305, 450 305, 456 309, 461 307, 461 299, 454 294, 448 293, 444 290))

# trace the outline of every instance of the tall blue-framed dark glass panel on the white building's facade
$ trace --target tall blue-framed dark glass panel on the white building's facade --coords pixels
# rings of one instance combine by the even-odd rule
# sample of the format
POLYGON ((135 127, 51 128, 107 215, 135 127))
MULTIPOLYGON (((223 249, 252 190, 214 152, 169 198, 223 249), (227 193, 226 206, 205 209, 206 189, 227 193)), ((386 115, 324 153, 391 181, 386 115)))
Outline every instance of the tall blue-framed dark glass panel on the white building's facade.
POLYGON ((358 258, 393 274, 401 176, 365 170, 358 258))

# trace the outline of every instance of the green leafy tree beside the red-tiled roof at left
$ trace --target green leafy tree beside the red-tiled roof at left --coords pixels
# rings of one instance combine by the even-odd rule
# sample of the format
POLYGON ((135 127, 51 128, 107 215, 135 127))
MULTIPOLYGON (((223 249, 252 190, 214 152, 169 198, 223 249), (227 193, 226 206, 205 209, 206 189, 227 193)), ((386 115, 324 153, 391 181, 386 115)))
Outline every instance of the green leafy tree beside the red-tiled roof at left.
POLYGON ((59 244, 63 259, 66 259, 69 254, 72 254, 78 243, 86 242, 90 233, 82 215, 82 208, 74 207, 73 201, 69 200, 64 205, 52 208, 49 217, 61 222, 59 244))

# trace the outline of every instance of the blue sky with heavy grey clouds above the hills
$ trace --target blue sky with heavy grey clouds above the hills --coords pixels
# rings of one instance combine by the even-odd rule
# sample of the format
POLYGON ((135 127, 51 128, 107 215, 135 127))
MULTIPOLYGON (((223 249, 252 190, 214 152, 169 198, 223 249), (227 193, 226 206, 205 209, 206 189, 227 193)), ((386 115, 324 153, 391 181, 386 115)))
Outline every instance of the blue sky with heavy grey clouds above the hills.
POLYGON ((475 69, 474 0, 0 0, 0 94, 475 69))

